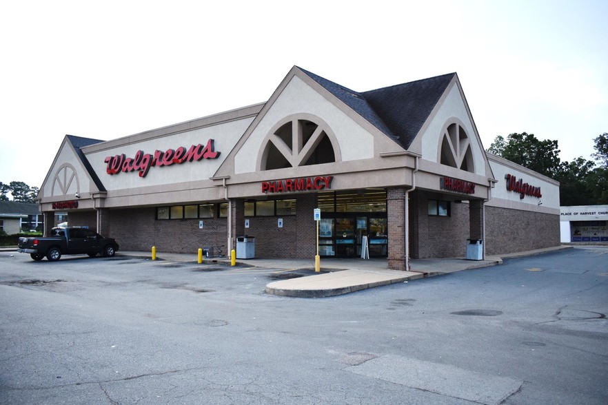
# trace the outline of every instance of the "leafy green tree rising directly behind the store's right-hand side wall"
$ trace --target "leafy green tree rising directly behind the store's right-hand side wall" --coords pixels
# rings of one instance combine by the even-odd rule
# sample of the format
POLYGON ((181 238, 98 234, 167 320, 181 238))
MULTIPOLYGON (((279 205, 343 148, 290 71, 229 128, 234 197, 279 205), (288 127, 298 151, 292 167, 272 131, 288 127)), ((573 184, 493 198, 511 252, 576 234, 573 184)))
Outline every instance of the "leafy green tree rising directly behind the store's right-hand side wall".
POLYGON ((551 178, 560 174, 558 141, 540 141, 526 132, 509 134, 506 141, 498 135, 487 150, 551 178))

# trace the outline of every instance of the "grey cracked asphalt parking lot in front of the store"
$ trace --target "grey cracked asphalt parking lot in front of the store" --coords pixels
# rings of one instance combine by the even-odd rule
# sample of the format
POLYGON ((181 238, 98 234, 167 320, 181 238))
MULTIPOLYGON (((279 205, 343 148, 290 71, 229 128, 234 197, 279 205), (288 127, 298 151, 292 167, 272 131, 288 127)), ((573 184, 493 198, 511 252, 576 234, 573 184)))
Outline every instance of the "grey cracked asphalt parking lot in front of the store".
POLYGON ((608 402, 608 249, 265 293, 302 273, 1 252, 0 403, 608 402))

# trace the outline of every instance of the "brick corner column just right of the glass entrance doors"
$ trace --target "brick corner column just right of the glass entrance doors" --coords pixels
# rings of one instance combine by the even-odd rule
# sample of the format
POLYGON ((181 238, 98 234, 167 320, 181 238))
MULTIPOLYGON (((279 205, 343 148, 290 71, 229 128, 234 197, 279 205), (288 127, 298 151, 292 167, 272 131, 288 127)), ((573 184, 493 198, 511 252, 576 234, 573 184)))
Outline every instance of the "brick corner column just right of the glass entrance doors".
POLYGON ((407 201, 405 189, 387 189, 387 220, 388 220, 388 268, 407 270, 405 251, 405 207, 407 201))

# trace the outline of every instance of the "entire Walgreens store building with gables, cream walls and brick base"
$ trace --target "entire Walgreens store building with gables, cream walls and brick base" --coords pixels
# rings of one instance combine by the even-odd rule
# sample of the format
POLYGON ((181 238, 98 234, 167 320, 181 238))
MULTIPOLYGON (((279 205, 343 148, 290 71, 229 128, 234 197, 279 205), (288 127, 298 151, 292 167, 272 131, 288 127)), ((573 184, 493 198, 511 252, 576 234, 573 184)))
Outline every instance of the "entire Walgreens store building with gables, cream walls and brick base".
POLYGON ((314 258, 317 207, 321 256, 367 248, 391 269, 560 243, 559 184, 485 152, 456 73, 355 92, 293 67, 266 103, 65 136, 39 200, 47 224, 68 212, 127 250, 228 252, 247 234, 256 257, 314 258))

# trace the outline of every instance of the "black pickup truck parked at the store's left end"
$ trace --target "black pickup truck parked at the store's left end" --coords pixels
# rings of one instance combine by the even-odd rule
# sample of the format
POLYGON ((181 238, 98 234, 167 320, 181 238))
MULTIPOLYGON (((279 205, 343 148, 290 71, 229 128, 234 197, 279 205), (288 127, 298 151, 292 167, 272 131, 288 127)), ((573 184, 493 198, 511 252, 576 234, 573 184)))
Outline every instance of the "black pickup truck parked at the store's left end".
POLYGON ((46 256, 50 262, 55 262, 61 255, 87 254, 94 257, 101 253, 112 257, 118 249, 116 240, 104 238, 87 228, 53 228, 48 237, 19 238, 17 251, 30 253, 34 260, 42 260, 46 256))

